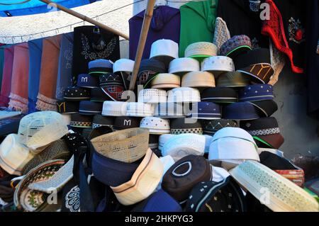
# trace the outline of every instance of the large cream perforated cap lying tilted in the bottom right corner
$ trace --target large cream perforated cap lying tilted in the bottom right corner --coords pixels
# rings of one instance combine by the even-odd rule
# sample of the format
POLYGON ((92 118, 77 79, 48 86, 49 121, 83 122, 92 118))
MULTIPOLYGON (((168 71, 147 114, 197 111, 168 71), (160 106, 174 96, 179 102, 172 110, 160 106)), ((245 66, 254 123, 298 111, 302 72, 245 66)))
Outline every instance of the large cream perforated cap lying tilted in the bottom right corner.
POLYGON ((259 162, 247 161, 230 170, 231 176, 259 201, 264 198, 264 189, 269 193, 269 202, 263 202, 274 212, 318 212, 318 202, 303 188, 277 174, 259 162))

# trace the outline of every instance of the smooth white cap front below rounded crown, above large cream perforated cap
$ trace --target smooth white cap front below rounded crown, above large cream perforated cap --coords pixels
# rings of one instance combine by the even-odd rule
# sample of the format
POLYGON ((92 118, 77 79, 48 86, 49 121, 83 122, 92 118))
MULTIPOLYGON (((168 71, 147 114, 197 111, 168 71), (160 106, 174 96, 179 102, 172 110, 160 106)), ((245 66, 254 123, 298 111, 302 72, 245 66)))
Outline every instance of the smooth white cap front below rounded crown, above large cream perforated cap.
POLYGON ((224 137, 213 140, 209 146, 209 160, 242 162, 242 160, 255 160, 260 162, 259 154, 254 144, 248 140, 235 137, 224 137))

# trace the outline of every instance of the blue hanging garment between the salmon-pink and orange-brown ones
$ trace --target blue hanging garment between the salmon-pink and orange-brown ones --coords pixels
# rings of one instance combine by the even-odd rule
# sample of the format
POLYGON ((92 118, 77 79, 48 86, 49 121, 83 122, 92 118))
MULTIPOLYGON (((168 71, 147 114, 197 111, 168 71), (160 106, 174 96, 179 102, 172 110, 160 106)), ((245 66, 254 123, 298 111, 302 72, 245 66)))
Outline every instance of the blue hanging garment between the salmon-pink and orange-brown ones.
POLYGON ((36 111, 38 100, 43 38, 28 41, 29 46, 29 81, 28 81, 28 113, 36 111))

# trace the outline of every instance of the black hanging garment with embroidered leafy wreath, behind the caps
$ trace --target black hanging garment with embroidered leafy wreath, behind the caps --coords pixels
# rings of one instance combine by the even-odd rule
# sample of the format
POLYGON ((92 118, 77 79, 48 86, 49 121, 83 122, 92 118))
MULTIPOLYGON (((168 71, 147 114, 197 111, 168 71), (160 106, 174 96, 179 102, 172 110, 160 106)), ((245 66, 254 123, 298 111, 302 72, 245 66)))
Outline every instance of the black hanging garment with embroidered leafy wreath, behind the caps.
POLYGON ((73 84, 77 83, 79 74, 89 72, 89 62, 96 59, 111 60, 112 62, 120 59, 118 35, 95 26, 74 28, 73 84))

